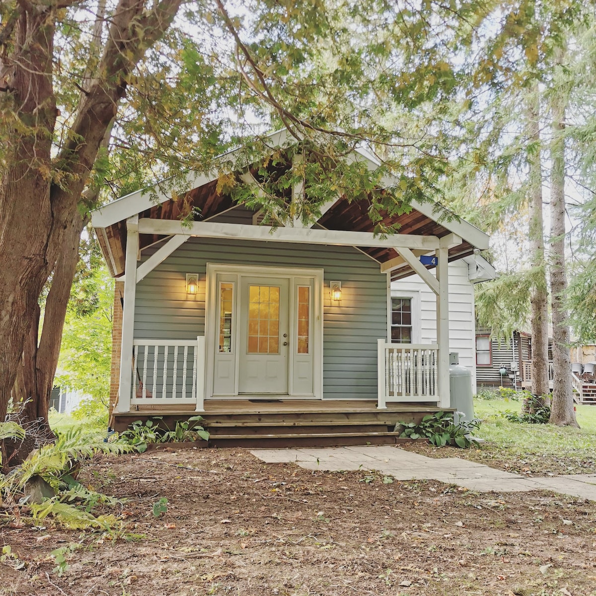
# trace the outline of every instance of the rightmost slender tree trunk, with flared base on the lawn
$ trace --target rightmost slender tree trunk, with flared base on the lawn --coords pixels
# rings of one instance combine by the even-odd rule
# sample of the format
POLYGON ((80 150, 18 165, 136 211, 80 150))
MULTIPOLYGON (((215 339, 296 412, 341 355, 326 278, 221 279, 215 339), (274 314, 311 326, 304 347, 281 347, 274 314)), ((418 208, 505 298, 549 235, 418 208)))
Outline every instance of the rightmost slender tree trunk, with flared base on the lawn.
MULTIPOLYGON (((563 50, 557 49, 560 65, 563 50)), ((567 290, 565 271, 565 121, 566 96, 558 86, 552 95, 551 144, 551 306, 552 306, 552 409, 549 422, 561 426, 579 426, 573 406, 569 325, 564 305, 567 290)))

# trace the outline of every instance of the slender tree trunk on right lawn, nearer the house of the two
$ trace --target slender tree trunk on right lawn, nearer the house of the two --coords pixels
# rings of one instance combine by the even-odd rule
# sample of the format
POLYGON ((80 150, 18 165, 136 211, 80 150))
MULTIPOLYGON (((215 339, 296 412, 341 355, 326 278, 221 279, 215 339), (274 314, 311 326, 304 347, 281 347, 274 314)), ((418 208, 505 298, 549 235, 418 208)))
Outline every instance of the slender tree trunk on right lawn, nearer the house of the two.
POLYGON ((540 145, 540 95, 535 85, 530 95, 528 116, 528 140, 535 145, 530 152, 530 250, 532 252, 532 393, 535 395, 530 407, 544 407, 550 401, 548 384, 548 292, 544 260, 544 234, 542 221, 542 163, 540 145))

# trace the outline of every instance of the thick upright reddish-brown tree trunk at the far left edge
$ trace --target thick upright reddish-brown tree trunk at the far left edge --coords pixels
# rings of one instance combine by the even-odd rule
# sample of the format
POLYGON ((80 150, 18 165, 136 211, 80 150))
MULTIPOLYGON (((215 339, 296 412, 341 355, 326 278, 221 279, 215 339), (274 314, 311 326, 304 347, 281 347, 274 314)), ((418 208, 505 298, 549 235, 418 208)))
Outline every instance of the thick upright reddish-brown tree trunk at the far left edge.
POLYGON ((55 8, 40 8, 20 15, 10 57, 18 67, 10 80, 15 122, 0 180, 0 420, 51 269, 48 133, 57 115, 52 89, 55 8))

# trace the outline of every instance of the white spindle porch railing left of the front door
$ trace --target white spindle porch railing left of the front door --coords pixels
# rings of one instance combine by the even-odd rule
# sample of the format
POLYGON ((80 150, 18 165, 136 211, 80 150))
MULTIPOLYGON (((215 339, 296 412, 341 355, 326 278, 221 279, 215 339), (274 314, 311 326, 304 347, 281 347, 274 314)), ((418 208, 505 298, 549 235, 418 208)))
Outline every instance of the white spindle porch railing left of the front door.
POLYGON ((195 403, 203 411, 205 338, 135 339, 131 404, 195 403))

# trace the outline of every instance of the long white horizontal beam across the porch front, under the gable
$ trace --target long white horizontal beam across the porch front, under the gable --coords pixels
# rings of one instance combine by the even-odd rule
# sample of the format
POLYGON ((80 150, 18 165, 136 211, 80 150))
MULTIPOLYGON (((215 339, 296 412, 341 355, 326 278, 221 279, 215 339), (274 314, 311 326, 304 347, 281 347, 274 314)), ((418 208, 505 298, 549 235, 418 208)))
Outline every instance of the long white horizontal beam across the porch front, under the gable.
POLYGON ((194 222, 182 227, 181 222, 164 219, 139 219, 140 234, 183 234, 201 238, 227 238, 228 240, 255 240, 262 242, 290 242, 296 244, 328 244, 330 246, 367 246, 379 248, 407 248, 436 250, 439 238, 414 234, 390 234, 381 238, 370 232, 347 232, 327 229, 293 229, 245 224, 219 224, 194 222))

